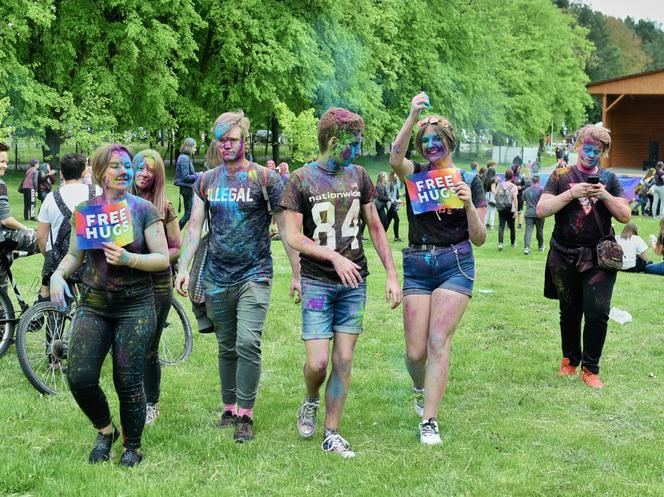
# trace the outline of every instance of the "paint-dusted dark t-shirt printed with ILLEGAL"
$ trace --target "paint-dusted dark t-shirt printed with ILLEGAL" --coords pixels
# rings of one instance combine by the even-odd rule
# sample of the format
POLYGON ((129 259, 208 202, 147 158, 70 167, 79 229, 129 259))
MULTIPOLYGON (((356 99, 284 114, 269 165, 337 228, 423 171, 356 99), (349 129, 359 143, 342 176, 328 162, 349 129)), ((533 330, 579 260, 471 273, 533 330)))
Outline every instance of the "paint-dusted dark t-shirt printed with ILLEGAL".
POLYGON ((232 175, 221 165, 196 180, 194 193, 210 211, 205 278, 211 283, 226 286, 272 278, 271 216, 263 185, 272 210, 281 211, 284 185, 279 175, 258 164, 232 175))

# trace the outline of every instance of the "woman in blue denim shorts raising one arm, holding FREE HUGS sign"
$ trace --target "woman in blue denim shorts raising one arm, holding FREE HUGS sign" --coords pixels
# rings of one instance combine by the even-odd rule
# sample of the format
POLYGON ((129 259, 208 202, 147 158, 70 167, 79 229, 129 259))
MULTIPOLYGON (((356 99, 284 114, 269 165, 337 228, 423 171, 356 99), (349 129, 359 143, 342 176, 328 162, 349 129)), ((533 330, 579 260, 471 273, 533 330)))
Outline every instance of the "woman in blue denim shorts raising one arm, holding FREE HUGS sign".
MULTIPOLYGON (((467 181, 452 163, 457 140, 447 119, 431 115, 425 93, 416 95, 390 153, 407 188, 409 247, 403 251, 406 367, 413 380, 420 442, 442 442, 436 417, 447 386, 452 335, 466 311, 475 279, 471 242, 486 239, 486 200, 480 178, 467 181), (416 149, 425 163, 405 158, 417 125, 416 149), (469 185, 470 183, 470 185, 469 185)), ((470 175, 469 175, 470 176, 470 175)))

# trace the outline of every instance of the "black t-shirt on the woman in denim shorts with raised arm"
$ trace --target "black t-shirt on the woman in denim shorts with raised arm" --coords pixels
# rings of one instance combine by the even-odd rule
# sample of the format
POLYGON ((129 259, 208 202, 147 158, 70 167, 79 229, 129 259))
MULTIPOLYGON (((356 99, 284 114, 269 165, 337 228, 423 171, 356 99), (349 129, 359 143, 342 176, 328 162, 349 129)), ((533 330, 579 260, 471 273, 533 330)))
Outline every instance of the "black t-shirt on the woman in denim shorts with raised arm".
MULTIPOLYGON (((430 164, 414 162, 413 174, 431 170, 430 164)), ((469 178, 470 174, 461 171, 461 179, 468 184, 473 197, 473 205, 477 208, 486 207, 486 197, 482 180, 478 175, 469 178)), ((437 212, 423 212, 415 215, 410 205, 410 197, 406 194, 406 212, 408 214, 408 243, 411 245, 440 245, 447 247, 468 240, 468 218, 466 210, 442 209, 437 212)))

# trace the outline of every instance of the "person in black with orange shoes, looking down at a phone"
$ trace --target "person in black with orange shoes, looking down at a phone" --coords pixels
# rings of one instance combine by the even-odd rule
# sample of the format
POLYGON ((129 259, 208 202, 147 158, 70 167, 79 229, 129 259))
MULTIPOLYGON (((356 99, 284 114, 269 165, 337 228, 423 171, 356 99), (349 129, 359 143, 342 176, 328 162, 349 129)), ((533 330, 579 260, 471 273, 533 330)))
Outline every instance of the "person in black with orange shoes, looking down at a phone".
POLYGON ((599 359, 606 338, 616 273, 598 266, 596 247, 613 233, 611 220, 628 223, 631 211, 618 177, 599 168, 611 147, 609 131, 589 124, 578 131, 578 163, 556 169, 537 204, 537 216, 555 215, 546 262, 544 296, 560 305, 561 376, 575 376, 602 388, 599 359), (583 326, 583 347, 581 320, 583 326))

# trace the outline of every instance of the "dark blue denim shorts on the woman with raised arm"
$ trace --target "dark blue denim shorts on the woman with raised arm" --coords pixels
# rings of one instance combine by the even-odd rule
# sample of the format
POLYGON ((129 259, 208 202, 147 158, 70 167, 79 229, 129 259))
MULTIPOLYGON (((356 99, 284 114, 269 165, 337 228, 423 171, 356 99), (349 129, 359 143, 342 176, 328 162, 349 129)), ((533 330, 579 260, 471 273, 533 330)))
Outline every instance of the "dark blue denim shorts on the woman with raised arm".
POLYGON ((475 257, 470 241, 449 247, 403 249, 403 294, 431 295, 436 289, 472 297, 475 257))

